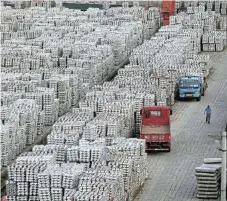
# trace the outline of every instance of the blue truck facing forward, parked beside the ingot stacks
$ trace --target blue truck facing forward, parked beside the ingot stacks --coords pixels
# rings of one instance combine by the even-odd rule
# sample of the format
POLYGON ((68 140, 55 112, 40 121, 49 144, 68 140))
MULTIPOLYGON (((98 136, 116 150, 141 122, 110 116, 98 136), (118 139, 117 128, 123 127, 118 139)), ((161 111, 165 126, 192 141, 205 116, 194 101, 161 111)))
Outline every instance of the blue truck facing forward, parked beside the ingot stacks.
POLYGON ((182 76, 176 85, 176 96, 179 100, 201 100, 207 88, 206 81, 201 76, 182 76))

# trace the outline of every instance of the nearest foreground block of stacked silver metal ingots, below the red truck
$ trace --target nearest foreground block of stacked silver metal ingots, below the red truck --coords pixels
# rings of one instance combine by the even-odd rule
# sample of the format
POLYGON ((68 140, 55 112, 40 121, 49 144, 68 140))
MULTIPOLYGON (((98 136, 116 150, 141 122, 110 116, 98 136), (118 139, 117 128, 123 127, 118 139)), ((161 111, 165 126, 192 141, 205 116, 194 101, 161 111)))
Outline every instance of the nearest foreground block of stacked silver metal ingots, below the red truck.
POLYGON ((116 138, 110 146, 104 139, 81 140, 65 152, 73 163, 61 164, 59 147, 37 145, 9 166, 8 198, 67 200, 86 194, 90 199, 102 195, 100 199, 124 200, 133 197, 147 178, 144 140, 116 138))

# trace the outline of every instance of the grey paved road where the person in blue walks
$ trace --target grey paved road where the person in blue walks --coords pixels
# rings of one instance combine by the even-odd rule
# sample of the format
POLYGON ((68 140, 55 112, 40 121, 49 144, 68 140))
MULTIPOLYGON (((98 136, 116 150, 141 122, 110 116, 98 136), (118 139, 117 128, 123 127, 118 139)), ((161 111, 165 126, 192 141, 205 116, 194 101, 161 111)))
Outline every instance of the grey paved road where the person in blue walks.
POLYGON ((199 200, 196 198, 194 169, 205 157, 220 157, 214 139, 208 134, 218 134, 227 122, 227 48, 220 53, 208 54, 215 71, 205 97, 200 102, 177 102, 174 105, 172 150, 148 155, 149 179, 135 200, 199 200), (210 125, 205 123, 203 114, 208 104, 213 111, 210 125))

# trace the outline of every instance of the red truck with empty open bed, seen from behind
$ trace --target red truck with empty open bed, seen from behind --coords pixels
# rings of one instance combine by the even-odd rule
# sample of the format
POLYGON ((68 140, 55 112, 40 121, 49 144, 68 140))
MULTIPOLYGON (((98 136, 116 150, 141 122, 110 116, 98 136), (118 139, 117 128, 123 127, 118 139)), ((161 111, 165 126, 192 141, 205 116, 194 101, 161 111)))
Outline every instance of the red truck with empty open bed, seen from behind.
POLYGON ((146 150, 170 152, 170 108, 165 106, 143 107, 141 115, 139 138, 146 140, 146 150))

